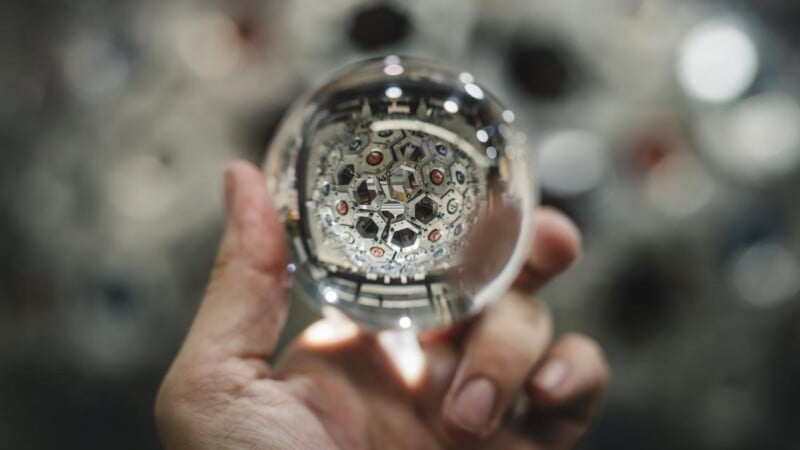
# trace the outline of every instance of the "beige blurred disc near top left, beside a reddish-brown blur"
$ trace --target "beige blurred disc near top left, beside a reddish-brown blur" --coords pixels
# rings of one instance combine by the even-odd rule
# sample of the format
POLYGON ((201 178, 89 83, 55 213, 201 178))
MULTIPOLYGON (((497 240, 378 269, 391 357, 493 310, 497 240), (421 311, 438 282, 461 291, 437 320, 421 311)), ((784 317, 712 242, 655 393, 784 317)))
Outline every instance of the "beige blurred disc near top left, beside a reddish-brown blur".
POLYGON ((186 65, 203 78, 231 74, 244 57, 236 24, 220 13, 187 19, 177 29, 177 46, 186 65))

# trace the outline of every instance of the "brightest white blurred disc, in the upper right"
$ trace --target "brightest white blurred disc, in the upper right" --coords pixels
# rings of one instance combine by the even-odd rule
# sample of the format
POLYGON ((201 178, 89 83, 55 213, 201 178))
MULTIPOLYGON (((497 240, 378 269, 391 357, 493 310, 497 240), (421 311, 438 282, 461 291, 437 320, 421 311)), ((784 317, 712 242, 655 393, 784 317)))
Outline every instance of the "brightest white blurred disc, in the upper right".
POLYGON ((678 54, 678 80, 698 100, 724 103, 741 96, 758 72, 753 40, 734 23, 712 20, 696 26, 678 54))

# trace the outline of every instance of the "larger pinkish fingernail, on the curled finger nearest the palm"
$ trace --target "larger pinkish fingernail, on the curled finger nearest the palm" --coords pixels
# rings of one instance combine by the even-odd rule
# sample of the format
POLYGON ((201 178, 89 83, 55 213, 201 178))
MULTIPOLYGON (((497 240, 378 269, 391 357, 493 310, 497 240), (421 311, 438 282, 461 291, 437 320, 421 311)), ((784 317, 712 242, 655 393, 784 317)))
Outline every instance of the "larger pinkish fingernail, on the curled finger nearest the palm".
POLYGON ((475 434, 486 433, 492 424, 497 390, 486 378, 476 378, 456 395, 449 416, 460 428, 475 434))

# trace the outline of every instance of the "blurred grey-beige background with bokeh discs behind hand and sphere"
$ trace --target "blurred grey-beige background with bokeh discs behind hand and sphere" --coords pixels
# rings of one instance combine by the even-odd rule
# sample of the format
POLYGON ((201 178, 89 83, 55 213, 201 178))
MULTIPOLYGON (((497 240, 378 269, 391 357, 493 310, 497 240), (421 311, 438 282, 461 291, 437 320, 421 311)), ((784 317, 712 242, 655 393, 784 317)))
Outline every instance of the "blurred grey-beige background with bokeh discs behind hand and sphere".
POLYGON ((585 233, 546 293, 614 372, 584 449, 800 448, 800 2, 10 0, 0 23, 0 448, 159 447, 223 166, 387 53, 506 101, 585 233))

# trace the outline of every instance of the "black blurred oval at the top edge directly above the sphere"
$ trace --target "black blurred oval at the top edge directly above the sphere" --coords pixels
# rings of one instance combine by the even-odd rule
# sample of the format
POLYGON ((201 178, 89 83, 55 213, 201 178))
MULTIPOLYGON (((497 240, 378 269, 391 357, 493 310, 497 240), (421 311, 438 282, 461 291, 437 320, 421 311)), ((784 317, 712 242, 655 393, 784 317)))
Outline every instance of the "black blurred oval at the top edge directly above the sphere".
POLYGON ((411 23, 396 8, 379 4, 358 11, 350 26, 350 39, 363 50, 396 44, 408 35, 411 23))

